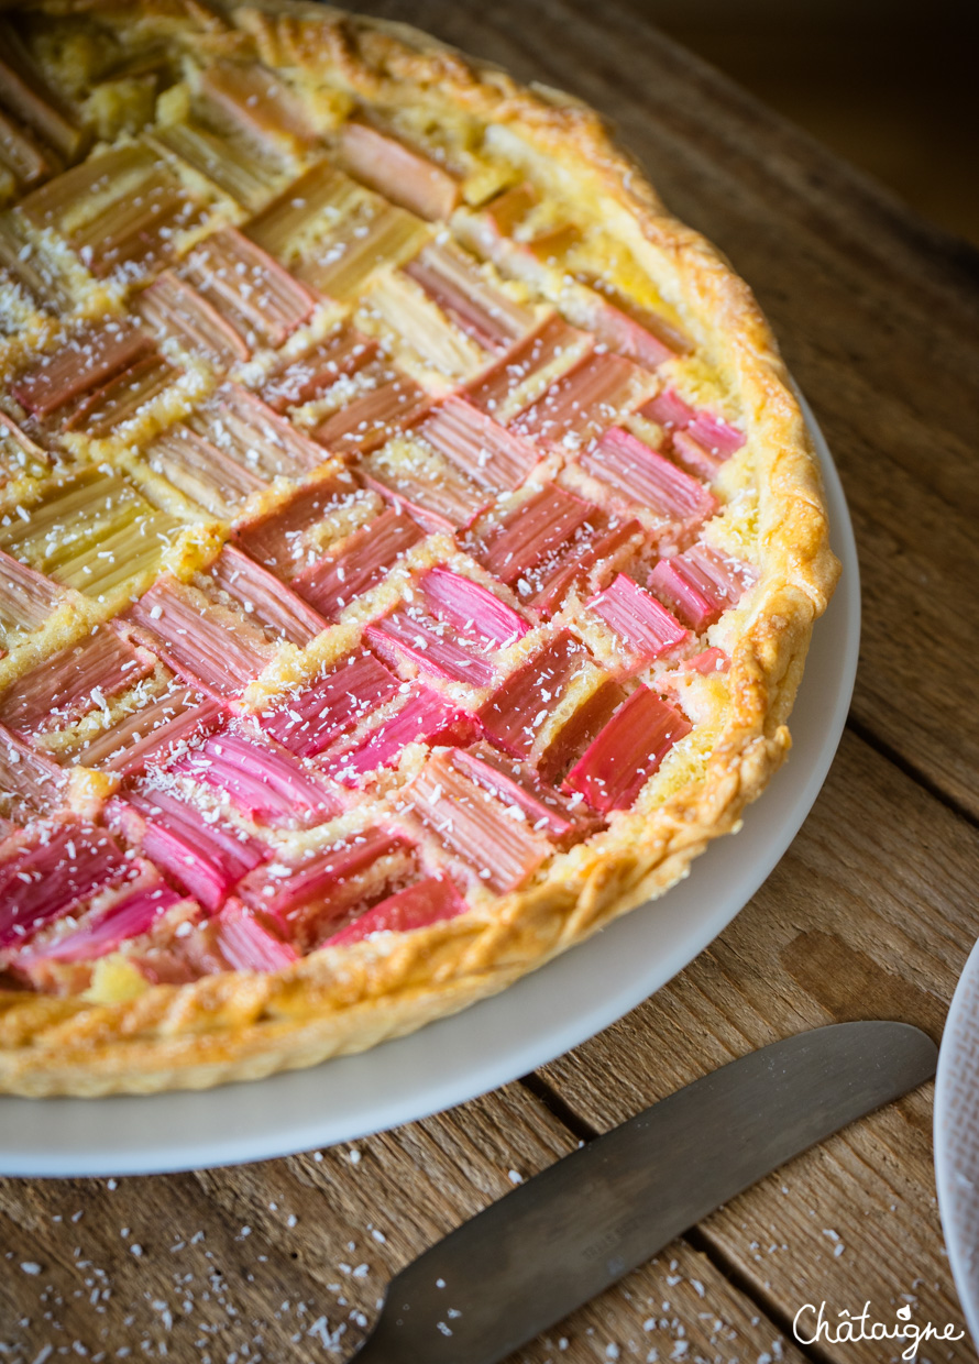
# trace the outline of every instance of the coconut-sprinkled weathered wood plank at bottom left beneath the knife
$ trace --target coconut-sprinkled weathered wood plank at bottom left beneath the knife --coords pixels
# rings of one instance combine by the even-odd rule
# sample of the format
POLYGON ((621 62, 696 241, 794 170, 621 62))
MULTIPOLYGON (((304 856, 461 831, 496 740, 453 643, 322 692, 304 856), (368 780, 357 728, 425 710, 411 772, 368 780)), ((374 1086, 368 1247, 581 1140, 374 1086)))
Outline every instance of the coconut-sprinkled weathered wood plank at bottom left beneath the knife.
MULTIPOLYGON (((80 1353, 78 1341, 87 1357, 125 1357, 119 1350, 128 1348, 132 1357, 215 1364, 348 1359, 391 1274, 575 1144, 513 1084, 440 1117, 292 1159, 115 1188, 0 1181, 8 1256, 0 1353, 20 1364, 48 1346, 80 1353)), ((555 1356, 607 1364, 656 1352, 713 1361, 744 1341, 802 1364, 754 1304, 679 1241, 514 1364, 555 1356)))

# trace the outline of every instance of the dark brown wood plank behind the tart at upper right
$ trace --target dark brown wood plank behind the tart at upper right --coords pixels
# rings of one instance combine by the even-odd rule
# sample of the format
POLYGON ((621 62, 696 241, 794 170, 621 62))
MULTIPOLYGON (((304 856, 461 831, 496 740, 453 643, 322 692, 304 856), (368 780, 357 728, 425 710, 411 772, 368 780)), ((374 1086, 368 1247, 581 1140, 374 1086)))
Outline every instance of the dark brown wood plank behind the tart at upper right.
POLYGON ((866 730, 979 816, 979 252, 657 34, 585 0, 367 0, 615 120, 753 285, 839 462, 864 585, 866 730))

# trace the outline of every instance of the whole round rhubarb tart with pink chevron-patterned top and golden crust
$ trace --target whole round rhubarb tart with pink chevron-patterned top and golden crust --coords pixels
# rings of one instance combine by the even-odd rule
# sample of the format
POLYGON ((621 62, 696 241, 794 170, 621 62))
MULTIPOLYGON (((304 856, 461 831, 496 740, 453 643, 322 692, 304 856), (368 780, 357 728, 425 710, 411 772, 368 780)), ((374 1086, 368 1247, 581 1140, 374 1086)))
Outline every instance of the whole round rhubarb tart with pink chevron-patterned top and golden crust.
POLYGON ((0 1088, 310 1065, 664 892, 836 578, 747 286, 410 29, 0 8, 0 1088))

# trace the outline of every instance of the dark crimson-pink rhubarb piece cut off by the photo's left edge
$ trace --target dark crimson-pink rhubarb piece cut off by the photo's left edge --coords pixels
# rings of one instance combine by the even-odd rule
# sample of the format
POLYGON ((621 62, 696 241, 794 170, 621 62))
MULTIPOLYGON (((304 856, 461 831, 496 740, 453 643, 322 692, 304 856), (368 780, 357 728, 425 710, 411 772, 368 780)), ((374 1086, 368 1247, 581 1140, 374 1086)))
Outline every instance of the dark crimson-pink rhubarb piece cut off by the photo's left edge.
POLYGON ((59 818, 14 833, 0 846, 0 951, 128 874, 116 840, 93 824, 59 818))

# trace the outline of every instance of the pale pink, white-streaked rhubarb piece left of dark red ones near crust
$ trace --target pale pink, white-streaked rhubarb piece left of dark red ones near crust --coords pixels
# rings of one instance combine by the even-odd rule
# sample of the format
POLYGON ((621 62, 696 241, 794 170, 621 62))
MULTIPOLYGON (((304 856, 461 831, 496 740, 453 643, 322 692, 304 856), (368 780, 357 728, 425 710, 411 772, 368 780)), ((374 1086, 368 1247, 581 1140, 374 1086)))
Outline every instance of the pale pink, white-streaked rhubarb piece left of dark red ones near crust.
POLYGON ((470 782, 450 754, 430 757, 404 797, 406 809, 491 891, 517 889, 551 853, 518 805, 470 782))

